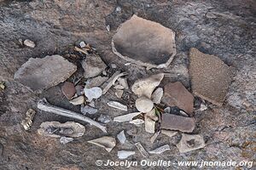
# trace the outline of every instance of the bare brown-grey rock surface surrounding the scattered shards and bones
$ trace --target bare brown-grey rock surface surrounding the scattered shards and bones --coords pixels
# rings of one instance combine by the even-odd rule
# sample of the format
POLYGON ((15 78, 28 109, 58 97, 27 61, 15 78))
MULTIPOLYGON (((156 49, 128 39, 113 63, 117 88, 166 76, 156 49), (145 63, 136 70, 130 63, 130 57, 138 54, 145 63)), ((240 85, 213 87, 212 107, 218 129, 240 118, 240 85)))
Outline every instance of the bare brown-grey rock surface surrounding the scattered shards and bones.
MULTIPOLYGON (((118 161, 120 149, 137 150, 134 143, 140 141, 146 150, 170 144, 171 150, 148 160, 166 161, 255 161, 255 105, 256 105, 256 3, 253 0, 224 1, 8 1, 0 0, 0 81, 6 88, 0 92, 0 169, 123 169, 123 167, 96 167, 96 160, 118 161), (111 39, 118 26, 137 14, 144 19, 159 22, 176 32, 177 54, 166 69, 146 71, 137 65, 125 66, 111 49, 111 39), (110 31, 107 30, 110 26, 110 31), (35 48, 20 46, 19 39, 30 39, 35 48), (130 76, 129 84, 147 75, 167 71, 178 77, 167 77, 165 82, 183 82, 191 90, 189 78, 189 48, 198 48, 206 54, 214 54, 227 65, 236 68, 224 105, 218 107, 207 103, 206 111, 195 111, 196 127, 193 133, 201 133, 206 147, 201 150, 180 154, 176 144, 181 134, 172 139, 160 135, 150 144, 151 134, 144 127, 129 123, 110 122, 108 134, 116 136, 122 129, 130 130, 129 143, 106 150, 86 141, 102 136, 102 132, 89 124, 85 125, 83 137, 68 144, 58 139, 45 138, 37 133, 45 121, 73 121, 63 116, 37 110, 38 99, 46 98, 53 105, 79 111, 61 93, 61 85, 35 94, 14 81, 14 74, 29 58, 43 58, 47 54, 65 54, 75 42, 84 40, 108 65, 116 64, 130 76), (25 131, 20 122, 26 111, 37 111, 30 131, 25 131)), ((154 44, 153 44, 154 45, 154 44)), ((81 65, 76 63, 81 74, 81 65)), ((71 77, 72 78, 72 77, 71 77)), ((112 91, 96 101, 99 112, 119 116, 106 104, 116 99, 112 91), (102 104, 102 105, 99 105, 102 104)), ((81 122, 82 123, 82 122, 81 122)), ((140 161, 137 152, 130 161, 140 161)), ((255 162, 254 162, 255 163, 255 162)), ((141 169, 142 167, 131 167, 141 169)), ((143 167, 165 169, 164 167, 143 167)), ((178 167, 170 169, 197 169, 178 167)), ((205 167, 205 169, 220 169, 205 167)), ((225 167, 224 169, 234 169, 225 167)), ((249 167, 236 167, 236 169, 249 167)), ((253 168, 253 167, 251 167, 253 168)))

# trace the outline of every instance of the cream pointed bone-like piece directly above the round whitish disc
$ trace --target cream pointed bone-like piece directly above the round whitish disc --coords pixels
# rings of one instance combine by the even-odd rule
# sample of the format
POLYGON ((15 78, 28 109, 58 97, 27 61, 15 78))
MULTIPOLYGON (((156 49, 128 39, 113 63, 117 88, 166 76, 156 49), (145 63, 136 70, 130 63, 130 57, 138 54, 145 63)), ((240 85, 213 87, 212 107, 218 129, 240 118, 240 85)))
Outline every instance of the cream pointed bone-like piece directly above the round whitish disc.
POLYGON ((154 88, 160 85, 161 80, 164 78, 165 74, 155 74, 150 77, 142 78, 137 80, 131 86, 131 91, 134 94, 137 94, 138 97, 145 96, 148 99, 151 99, 151 94, 154 91, 154 88))

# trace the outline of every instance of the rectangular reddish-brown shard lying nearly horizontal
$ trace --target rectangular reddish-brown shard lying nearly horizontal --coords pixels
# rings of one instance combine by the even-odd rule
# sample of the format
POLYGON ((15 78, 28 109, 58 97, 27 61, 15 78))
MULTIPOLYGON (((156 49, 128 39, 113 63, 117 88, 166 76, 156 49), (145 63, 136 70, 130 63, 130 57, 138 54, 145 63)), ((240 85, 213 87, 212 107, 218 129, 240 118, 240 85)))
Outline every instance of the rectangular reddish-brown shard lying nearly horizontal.
POLYGON ((195 128, 195 120, 191 117, 162 114, 162 129, 179 130, 185 133, 192 133, 195 128))

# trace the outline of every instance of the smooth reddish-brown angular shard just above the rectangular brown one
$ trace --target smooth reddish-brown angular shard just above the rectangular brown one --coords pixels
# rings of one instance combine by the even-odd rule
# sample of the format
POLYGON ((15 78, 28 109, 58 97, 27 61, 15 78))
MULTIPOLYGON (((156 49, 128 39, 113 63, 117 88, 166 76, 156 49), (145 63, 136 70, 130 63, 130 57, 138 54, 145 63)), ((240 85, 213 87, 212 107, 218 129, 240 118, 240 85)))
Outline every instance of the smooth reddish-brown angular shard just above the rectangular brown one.
POLYGON ((193 113, 194 97, 181 82, 170 82, 166 84, 164 91, 162 101, 166 105, 177 106, 190 115, 193 113))

